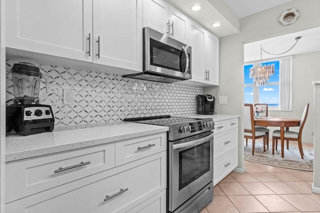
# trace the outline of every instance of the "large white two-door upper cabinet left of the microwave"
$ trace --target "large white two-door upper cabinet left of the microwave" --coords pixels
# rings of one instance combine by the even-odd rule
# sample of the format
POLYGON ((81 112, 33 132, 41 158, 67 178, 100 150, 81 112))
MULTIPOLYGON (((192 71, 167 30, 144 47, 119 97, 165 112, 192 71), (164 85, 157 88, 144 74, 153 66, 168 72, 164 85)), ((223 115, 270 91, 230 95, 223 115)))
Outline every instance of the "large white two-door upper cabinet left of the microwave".
POLYGON ((8 0, 6 9, 7 47, 142 71, 140 0, 8 0))

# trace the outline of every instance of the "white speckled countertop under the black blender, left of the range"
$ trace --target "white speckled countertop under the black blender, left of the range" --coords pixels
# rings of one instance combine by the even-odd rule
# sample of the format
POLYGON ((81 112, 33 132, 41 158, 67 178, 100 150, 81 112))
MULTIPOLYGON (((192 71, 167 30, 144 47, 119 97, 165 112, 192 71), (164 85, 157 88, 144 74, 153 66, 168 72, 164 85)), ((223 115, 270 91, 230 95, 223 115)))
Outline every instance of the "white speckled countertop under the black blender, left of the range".
POLYGON ((110 122, 55 127, 53 132, 5 137, 5 162, 21 160, 103 143, 168 131, 168 127, 131 122, 110 122))

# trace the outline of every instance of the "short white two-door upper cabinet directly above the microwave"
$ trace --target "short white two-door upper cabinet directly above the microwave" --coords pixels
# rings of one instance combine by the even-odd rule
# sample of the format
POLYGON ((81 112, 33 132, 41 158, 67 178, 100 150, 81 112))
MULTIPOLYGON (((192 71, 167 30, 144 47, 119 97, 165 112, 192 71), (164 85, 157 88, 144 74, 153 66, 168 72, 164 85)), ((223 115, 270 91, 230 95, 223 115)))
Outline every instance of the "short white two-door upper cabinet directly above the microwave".
POLYGON ((163 0, 143 0, 143 27, 188 43, 188 17, 163 0))

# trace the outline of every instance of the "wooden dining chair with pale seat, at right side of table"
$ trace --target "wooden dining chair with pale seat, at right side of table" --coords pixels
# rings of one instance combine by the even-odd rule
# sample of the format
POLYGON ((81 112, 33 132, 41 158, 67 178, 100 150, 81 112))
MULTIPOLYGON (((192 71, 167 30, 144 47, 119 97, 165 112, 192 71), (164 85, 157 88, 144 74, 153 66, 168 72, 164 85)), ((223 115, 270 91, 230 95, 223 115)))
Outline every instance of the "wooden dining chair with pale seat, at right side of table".
MULTIPOLYGON (((302 129, 303 129, 306 117, 308 115, 308 111, 309 111, 309 104, 307 104, 304 107, 303 114, 300 121, 299 132, 284 131, 284 140, 287 140, 286 149, 288 149, 288 141, 297 141, 302 159, 303 159, 303 149, 302 149, 302 142, 301 142, 302 129)), ((274 143, 275 143, 275 147, 277 147, 278 139, 281 139, 280 130, 274 130, 272 133, 272 155, 274 155, 274 143)))

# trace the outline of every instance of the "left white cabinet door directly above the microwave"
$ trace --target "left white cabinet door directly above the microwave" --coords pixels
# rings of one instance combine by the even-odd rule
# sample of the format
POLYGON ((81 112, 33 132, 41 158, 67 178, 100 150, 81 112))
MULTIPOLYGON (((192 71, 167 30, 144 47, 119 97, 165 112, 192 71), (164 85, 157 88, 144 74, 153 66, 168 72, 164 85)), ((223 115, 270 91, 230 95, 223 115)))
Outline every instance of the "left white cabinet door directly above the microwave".
POLYGON ((169 4, 163 0, 143 0, 143 27, 169 34, 169 4))

